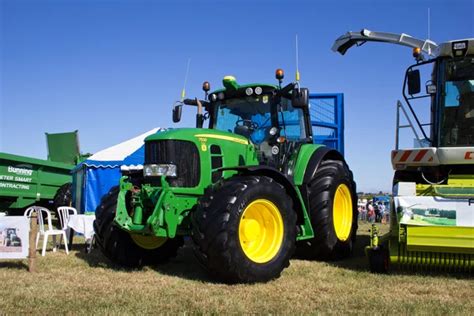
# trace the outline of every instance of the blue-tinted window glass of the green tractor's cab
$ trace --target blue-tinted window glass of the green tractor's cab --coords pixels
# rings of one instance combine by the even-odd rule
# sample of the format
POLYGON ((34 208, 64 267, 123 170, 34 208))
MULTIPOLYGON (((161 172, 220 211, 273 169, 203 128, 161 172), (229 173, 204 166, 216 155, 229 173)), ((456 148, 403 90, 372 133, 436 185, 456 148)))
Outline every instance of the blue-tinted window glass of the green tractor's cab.
POLYGON ((288 140, 306 137, 302 110, 293 108, 286 98, 281 99, 281 107, 275 112, 278 122, 272 122, 272 96, 269 95, 222 100, 215 108, 216 129, 245 136, 257 145, 268 140, 273 126, 280 128, 280 135, 288 140))

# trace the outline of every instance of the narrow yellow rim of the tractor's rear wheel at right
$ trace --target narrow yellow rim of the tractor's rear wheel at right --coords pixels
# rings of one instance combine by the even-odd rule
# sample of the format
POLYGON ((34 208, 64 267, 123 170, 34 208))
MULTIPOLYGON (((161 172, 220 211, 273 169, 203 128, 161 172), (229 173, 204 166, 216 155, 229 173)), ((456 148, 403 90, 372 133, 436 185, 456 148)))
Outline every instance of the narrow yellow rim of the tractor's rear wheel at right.
POLYGON ((345 184, 337 187, 333 202, 333 224, 336 236, 346 241, 352 230, 352 196, 345 184))

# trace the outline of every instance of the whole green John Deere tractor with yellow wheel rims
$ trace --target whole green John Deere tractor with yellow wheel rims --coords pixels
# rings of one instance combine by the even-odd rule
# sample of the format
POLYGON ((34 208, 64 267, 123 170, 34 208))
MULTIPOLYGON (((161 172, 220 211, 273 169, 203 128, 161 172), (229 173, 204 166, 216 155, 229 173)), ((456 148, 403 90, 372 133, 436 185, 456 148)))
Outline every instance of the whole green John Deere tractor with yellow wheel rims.
POLYGON ((336 150, 313 143, 308 89, 298 83, 239 85, 234 77, 197 107, 196 128, 145 140, 143 167, 122 168, 96 210, 101 251, 126 267, 176 255, 191 236, 198 261, 228 283, 279 277, 298 252, 334 260, 357 230, 352 172, 336 150), (204 128, 207 125, 207 128, 204 128))

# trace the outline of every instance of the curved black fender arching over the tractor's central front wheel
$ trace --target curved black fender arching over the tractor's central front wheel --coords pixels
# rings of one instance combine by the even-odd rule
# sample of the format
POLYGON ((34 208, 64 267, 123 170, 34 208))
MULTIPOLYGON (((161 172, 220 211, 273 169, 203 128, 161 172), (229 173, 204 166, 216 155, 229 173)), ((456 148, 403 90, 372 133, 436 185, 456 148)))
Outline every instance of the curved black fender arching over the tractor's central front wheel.
POLYGON ((258 176, 266 176, 272 178, 276 182, 283 185, 285 190, 290 195, 291 199, 293 200, 293 205, 295 207, 296 215, 298 216, 298 223, 304 222, 304 211, 302 207, 302 203, 298 197, 298 192, 296 191, 296 187, 292 180, 288 179, 283 173, 278 171, 278 169, 268 167, 268 166, 238 166, 238 167, 226 167, 221 168, 220 170, 234 170, 237 171, 240 175, 258 175, 258 176))

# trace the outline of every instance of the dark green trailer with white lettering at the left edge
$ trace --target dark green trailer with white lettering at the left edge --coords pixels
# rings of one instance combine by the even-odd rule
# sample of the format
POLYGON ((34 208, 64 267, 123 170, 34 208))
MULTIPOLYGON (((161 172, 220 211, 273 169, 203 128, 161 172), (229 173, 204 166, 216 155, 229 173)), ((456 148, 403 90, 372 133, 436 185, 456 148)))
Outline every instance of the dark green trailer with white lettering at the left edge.
POLYGON ((31 205, 68 205, 71 170, 80 155, 77 131, 46 134, 48 160, 0 153, 0 211, 19 214, 31 205))

